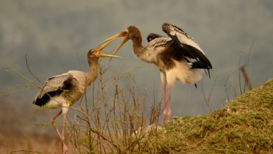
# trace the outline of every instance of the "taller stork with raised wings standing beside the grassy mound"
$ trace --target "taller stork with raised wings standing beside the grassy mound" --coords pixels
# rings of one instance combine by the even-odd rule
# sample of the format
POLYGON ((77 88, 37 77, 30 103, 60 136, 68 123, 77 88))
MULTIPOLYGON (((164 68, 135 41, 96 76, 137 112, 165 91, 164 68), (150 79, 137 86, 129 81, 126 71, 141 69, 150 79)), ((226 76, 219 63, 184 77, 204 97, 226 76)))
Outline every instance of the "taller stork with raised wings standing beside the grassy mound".
POLYGON ((163 89, 164 111, 162 123, 164 123, 166 116, 168 120, 171 117, 171 87, 176 80, 180 80, 183 84, 196 83, 202 79, 202 73, 204 73, 202 69, 209 70, 212 69, 212 66, 200 45, 185 31, 169 23, 164 23, 162 30, 169 37, 151 34, 148 36, 149 43, 146 45, 142 45, 141 31, 135 26, 128 27, 124 31, 102 41, 102 43, 111 42, 116 38, 125 36, 113 55, 118 52, 124 43, 131 39, 134 55, 144 62, 158 66, 163 89), (168 85, 168 101, 166 98, 166 85, 168 85))

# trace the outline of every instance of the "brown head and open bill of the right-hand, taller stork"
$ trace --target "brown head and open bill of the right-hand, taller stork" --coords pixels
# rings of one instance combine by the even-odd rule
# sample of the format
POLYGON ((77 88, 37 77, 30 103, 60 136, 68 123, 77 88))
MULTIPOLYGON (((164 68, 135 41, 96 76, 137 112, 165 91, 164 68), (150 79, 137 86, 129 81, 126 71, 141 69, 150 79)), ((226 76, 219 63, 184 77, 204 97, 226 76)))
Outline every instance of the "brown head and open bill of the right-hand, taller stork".
POLYGON ((106 40, 102 41, 102 43, 111 43, 112 41, 116 40, 117 38, 120 37, 125 37, 123 39, 123 41, 120 43, 120 45, 118 45, 118 47, 116 48, 116 50, 113 52, 113 55, 116 54, 116 52, 118 52, 118 50, 121 48, 121 46, 123 46, 123 44, 125 44, 128 40, 136 40, 141 42, 142 38, 141 38, 141 31, 139 31, 139 29, 135 26, 130 26, 127 29, 125 29, 124 31, 121 31, 120 33, 113 35, 109 38, 107 38, 106 40))

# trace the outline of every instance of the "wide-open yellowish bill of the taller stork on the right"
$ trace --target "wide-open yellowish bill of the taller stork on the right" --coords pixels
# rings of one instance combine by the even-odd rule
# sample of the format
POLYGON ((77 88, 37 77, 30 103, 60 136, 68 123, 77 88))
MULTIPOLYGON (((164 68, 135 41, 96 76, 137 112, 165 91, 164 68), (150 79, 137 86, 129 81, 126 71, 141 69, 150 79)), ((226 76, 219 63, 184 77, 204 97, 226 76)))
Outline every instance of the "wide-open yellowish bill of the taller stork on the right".
POLYGON ((111 43, 112 41, 116 40, 117 38, 123 37, 123 36, 125 36, 125 38, 124 38, 123 41, 118 45, 118 47, 116 48, 116 50, 114 50, 114 52, 113 52, 113 55, 115 55, 116 52, 118 52, 118 50, 123 46, 123 44, 126 43, 126 42, 129 40, 129 37, 128 37, 128 30, 127 30, 127 29, 125 29, 125 31, 122 31, 122 32, 120 32, 120 33, 118 33, 118 34, 116 34, 116 35, 113 35, 113 36, 111 36, 111 37, 109 37, 109 38, 106 38, 106 40, 102 41, 100 44, 102 44, 102 43, 107 43, 107 45, 108 45, 108 44, 111 43))

